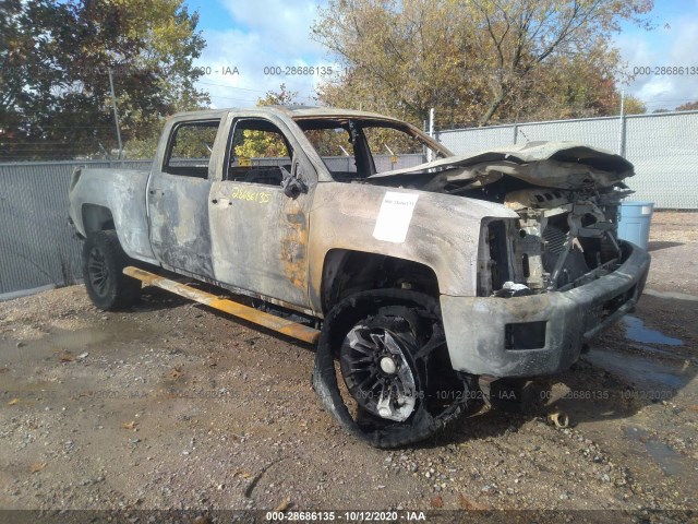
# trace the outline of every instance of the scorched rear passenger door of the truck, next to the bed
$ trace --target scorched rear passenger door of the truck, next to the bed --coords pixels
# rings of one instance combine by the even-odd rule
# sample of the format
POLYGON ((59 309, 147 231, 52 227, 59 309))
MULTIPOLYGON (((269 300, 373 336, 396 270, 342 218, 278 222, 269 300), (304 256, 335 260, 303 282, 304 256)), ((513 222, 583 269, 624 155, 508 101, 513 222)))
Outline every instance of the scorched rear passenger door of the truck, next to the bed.
MULTIPOLYGON (((154 164, 147 204, 153 251, 163 265, 213 277, 208 194, 220 119, 174 122, 154 164), (159 165, 158 165, 159 164, 159 165)), ((224 138, 225 140, 225 138, 224 138)))

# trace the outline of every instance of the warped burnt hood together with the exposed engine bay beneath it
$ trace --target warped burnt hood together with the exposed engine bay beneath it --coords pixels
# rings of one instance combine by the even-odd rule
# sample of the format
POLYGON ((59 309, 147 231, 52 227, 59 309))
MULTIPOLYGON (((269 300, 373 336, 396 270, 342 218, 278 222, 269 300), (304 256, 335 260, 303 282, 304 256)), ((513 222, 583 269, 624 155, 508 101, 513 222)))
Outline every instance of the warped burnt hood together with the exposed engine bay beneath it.
POLYGON ((508 151, 449 157, 369 177, 496 202, 518 221, 484 219, 478 296, 567 290, 613 272, 624 261, 616 241, 623 179, 618 155, 571 143, 532 142, 508 151), (426 167, 426 168, 425 168, 426 167))

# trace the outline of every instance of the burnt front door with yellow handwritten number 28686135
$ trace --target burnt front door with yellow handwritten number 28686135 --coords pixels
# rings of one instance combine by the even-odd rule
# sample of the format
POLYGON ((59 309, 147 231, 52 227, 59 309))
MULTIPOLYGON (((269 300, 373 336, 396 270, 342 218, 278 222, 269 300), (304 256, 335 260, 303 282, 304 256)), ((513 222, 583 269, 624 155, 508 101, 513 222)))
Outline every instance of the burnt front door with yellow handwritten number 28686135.
POLYGON ((224 180, 210 192, 216 279, 308 307, 308 238, 315 171, 291 133, 270 120, 240 118, 231 128, 224 180), (301 167, 302 166, 302 167, 301 167), (287 195, 285 178, 305 188, 287 195))

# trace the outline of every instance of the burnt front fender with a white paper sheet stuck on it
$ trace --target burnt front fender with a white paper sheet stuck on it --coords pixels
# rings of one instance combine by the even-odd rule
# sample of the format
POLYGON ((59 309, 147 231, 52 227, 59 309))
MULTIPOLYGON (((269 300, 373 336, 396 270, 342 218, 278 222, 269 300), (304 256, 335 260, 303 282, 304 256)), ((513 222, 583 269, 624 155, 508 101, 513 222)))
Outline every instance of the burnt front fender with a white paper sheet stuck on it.
POLYGON ((480 224, 484 217, 518 215, 503 205, 464 196, 370 184, 318 183, 310 218, 313 308, 322 308, 323 263, 332 249, 417 262, 434 271, 441 294, 474 296, 480 224), (386 193, 392 194, 386 198, 386 193), (411 207, 411 213, 402 205, 411 207))

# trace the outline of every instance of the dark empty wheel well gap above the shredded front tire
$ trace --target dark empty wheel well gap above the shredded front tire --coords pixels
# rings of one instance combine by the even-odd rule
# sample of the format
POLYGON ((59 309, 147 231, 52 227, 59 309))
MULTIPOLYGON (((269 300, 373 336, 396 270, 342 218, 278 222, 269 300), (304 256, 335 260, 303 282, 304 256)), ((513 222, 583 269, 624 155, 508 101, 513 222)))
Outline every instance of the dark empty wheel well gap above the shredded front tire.
POLYGON ((345 249, 333 249, 325 257, 321 293, 325 312, 354 293, 392 288, 438 297, 436 274, 419 262, 345 249))

